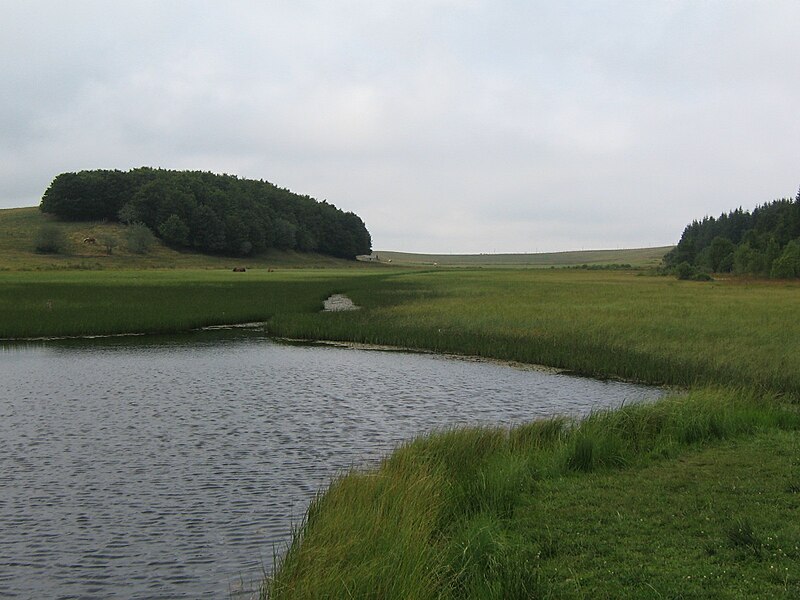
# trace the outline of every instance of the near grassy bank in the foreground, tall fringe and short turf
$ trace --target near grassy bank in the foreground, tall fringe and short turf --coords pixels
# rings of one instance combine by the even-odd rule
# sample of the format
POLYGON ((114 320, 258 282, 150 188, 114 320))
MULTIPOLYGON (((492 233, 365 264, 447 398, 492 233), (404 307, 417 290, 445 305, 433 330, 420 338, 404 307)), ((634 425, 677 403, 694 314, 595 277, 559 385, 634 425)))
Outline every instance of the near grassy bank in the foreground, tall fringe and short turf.
POLYGON ((270 597, 796 598, 798 427, 717 390, 420 438, 312 504, 270 597))

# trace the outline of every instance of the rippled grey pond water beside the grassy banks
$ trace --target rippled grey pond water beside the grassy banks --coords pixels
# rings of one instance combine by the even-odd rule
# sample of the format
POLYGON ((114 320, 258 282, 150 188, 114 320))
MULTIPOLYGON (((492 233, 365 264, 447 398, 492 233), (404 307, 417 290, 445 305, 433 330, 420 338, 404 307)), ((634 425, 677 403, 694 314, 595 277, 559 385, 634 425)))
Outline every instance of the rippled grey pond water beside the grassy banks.
POLYGON ((343 469, 661 394, 259 331, 0 343, 0 597, 250 597, 343 469))

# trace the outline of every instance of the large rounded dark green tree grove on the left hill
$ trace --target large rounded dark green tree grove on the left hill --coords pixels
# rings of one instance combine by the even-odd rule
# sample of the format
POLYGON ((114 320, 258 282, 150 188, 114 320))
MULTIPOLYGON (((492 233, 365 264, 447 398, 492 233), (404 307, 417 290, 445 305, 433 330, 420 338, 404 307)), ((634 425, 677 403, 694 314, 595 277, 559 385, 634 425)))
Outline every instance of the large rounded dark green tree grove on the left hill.
POLYGON ((141 223, 175 248, 235 256, 279 248, 354 258, 372 245, 351 212, 266 181, 201 171, 62 173, 40 209, 69 221, 141 223))

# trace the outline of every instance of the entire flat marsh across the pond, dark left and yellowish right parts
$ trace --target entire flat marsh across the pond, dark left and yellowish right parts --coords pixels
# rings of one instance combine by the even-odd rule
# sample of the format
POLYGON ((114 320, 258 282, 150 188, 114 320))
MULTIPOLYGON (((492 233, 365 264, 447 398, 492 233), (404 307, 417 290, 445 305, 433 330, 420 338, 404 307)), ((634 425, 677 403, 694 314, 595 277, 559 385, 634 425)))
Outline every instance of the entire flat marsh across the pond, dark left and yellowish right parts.
POLYGON ((609 272, 308 269, 0 273, 0 337, 269 321, 278 336, 800 395, 800 286, 609 272), (363 310, 320 313, 334 292, 363 310))

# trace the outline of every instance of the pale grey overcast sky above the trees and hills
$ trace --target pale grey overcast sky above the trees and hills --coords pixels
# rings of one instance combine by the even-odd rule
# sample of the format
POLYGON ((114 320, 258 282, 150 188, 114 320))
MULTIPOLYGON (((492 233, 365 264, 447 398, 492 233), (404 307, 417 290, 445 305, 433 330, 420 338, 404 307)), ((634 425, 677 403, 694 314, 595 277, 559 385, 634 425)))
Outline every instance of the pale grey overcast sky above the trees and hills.
POLYGON ((266 179, 381 250, 677 242, 800 185, 796 0, 0 0, 0 208, 266 179))

